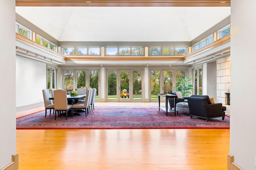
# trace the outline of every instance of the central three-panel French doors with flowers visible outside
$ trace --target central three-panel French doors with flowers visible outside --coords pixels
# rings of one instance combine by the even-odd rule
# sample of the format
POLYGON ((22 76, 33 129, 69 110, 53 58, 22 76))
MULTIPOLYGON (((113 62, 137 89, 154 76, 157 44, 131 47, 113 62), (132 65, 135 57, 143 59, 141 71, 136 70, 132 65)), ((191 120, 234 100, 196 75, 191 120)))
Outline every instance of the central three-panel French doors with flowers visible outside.
POLYGON ((142 102, 142 70, 107 70, 107 102, 142 102))

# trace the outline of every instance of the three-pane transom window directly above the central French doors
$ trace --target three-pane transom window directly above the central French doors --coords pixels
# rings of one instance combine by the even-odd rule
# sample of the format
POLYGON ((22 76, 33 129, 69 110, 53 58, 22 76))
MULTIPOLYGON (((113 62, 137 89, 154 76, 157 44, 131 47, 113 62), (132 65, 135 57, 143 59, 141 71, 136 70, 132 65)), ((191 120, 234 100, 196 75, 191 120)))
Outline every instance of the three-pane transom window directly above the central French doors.
POLYGON ((106 47, 105 55, 144 55, 143 47, 106 47))

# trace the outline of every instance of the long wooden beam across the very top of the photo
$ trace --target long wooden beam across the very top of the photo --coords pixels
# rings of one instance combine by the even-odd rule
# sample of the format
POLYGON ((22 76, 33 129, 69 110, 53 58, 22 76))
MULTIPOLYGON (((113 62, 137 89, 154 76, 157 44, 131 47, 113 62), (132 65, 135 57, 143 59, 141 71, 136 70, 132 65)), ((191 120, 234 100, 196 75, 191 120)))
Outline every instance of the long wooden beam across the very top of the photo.
POLYGON ((221 7, 231 0, 16 0, 16 6, 221 7))

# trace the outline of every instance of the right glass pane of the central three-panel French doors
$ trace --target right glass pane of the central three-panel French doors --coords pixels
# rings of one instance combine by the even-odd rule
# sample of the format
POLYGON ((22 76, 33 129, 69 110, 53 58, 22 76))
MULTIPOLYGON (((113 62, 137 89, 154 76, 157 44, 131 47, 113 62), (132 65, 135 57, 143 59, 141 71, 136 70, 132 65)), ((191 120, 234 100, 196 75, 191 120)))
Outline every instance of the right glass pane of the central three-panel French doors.
POLYGON ((132 71, 132 98, 142 98, 142 71, 132 71))

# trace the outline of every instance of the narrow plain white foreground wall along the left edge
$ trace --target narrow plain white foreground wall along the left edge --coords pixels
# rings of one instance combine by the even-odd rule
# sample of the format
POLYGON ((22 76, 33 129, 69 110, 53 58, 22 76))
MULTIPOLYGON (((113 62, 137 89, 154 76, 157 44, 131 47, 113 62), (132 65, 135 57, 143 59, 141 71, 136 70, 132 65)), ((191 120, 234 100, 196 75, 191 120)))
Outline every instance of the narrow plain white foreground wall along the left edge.
POLYGON ((16 153, 15 0, 0 0, 0 169, 16 153))

